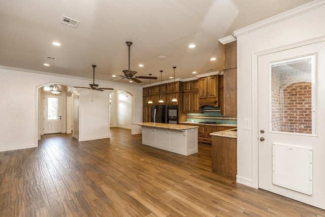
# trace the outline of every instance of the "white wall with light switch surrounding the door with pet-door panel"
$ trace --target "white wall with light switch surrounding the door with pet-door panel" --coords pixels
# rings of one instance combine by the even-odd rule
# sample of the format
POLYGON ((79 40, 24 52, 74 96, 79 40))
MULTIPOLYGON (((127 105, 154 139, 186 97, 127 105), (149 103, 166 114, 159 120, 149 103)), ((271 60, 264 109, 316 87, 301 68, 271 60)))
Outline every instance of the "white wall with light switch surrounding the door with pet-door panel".
MULTIPOLYGON (((252 56, 254 53, 268 49, 325 37, 324 5, 324 1, 312 2, 307 6, 311 9, 308 10, 308 13, 298 15, 295 12, 299 12, 300 9, 291 10, 286 13, 289 17, 281 21, 277 21, 277 18, 285 17, 284 14, 234 32, 237 37, 237 80, 240 81, 237 83, 237 181, 240 183, 258 188, 258 159, 256 159, 258 145, 257 73, 253 68, 255 63, 253 63, 252 56), (263 26, 263 24, 265 25, 263 26), (252 130, 244 130, 244 118, 252 119, 252 130)), ((324 82, 322 81, 320 84, 324 84, 324 82)), ((320 124, 322 127, 324 126, 323 123, 320 124)), ((324 152, 315 153, 315 155, 317 154, 321 154, 322 157, 314 159, 322 159, 324 156, 324 152)), ((314 163, 317 165, 321 162, 314 163)), ((324 179, 324 173, 318 173, 316 176, 324 179)))

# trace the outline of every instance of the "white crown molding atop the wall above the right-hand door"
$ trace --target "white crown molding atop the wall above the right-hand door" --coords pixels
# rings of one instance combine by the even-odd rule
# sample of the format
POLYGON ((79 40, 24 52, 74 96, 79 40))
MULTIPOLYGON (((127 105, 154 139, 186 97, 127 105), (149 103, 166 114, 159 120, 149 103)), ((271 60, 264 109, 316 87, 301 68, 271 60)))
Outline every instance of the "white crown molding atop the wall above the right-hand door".
POLYGON ((292 19, 297 16, 309 13, 311 11, 318 10, 325 7, 325 0, 315 0, 313 2, 307 3, 305 5, 299 6, 297 8, 291 9, 289 11, 283 12, 281 14, 275 15, 268 19, 256 22, 244 28, 234 31, 232 34, 234 37, 238 38, 253 32, 256 32, 259 29, 266 28, 268 26, 274 25, 276 23, 283 22, 288 19, 292 19))

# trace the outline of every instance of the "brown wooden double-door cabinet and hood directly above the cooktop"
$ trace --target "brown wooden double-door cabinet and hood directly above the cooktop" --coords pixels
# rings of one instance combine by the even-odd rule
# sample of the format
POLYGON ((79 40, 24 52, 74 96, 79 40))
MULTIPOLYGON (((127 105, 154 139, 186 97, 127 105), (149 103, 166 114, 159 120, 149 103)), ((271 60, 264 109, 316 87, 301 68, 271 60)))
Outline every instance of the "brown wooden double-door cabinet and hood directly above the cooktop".
POLYGON ((199 78, 199 104, 218 107, 219 75, 199 78))

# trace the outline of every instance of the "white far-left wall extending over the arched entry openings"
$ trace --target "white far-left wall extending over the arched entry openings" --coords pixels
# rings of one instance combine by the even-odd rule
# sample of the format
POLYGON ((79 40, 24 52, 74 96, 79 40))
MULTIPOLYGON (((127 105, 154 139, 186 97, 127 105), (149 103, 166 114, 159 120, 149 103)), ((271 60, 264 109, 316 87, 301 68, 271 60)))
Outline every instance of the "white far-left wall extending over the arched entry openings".
MULTIPOLYGON (((48 83, 88 86, 91 82, 92 79, 0 66, 0 85, 2 86, 2 91, 0 91, 0 99, 2 100, 0 105, 2 123, 0 125, 0 151, 38 146, 39 108, 37 105, 39 87, 48 83)), ((114 89, 127 88, 135 96, 134 98, 138 99, 134 101, 134 108, 132 108, 134 122, 142 122, 142 87, 105 81, 95 82, 100 86, 110 86, 114 89)), ((76 105, 75 101, 74 105, 76 105)), ((79 105, 80 107, 81 105, 79 105)), ((74 128, 77 127, 75 123, 74 128)), ((83 124, 87 126, 86 123, 83 124)), ((78 136, 76 134, 78 129, 76 131, 74 131, 74 136, 78 136)), ((132 133, 141 133, 141 127, 132 125, 132 133)))

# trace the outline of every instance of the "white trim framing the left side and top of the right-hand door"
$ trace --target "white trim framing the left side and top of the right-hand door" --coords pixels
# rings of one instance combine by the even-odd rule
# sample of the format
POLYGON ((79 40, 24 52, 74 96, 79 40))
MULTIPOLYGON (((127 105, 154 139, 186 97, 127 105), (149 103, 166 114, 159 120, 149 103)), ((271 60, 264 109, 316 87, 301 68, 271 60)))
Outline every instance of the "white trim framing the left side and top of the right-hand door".
POLYGON ((322 36, 252 53, 252 188, 258 189, 258 57, 324 41, 322 36))

